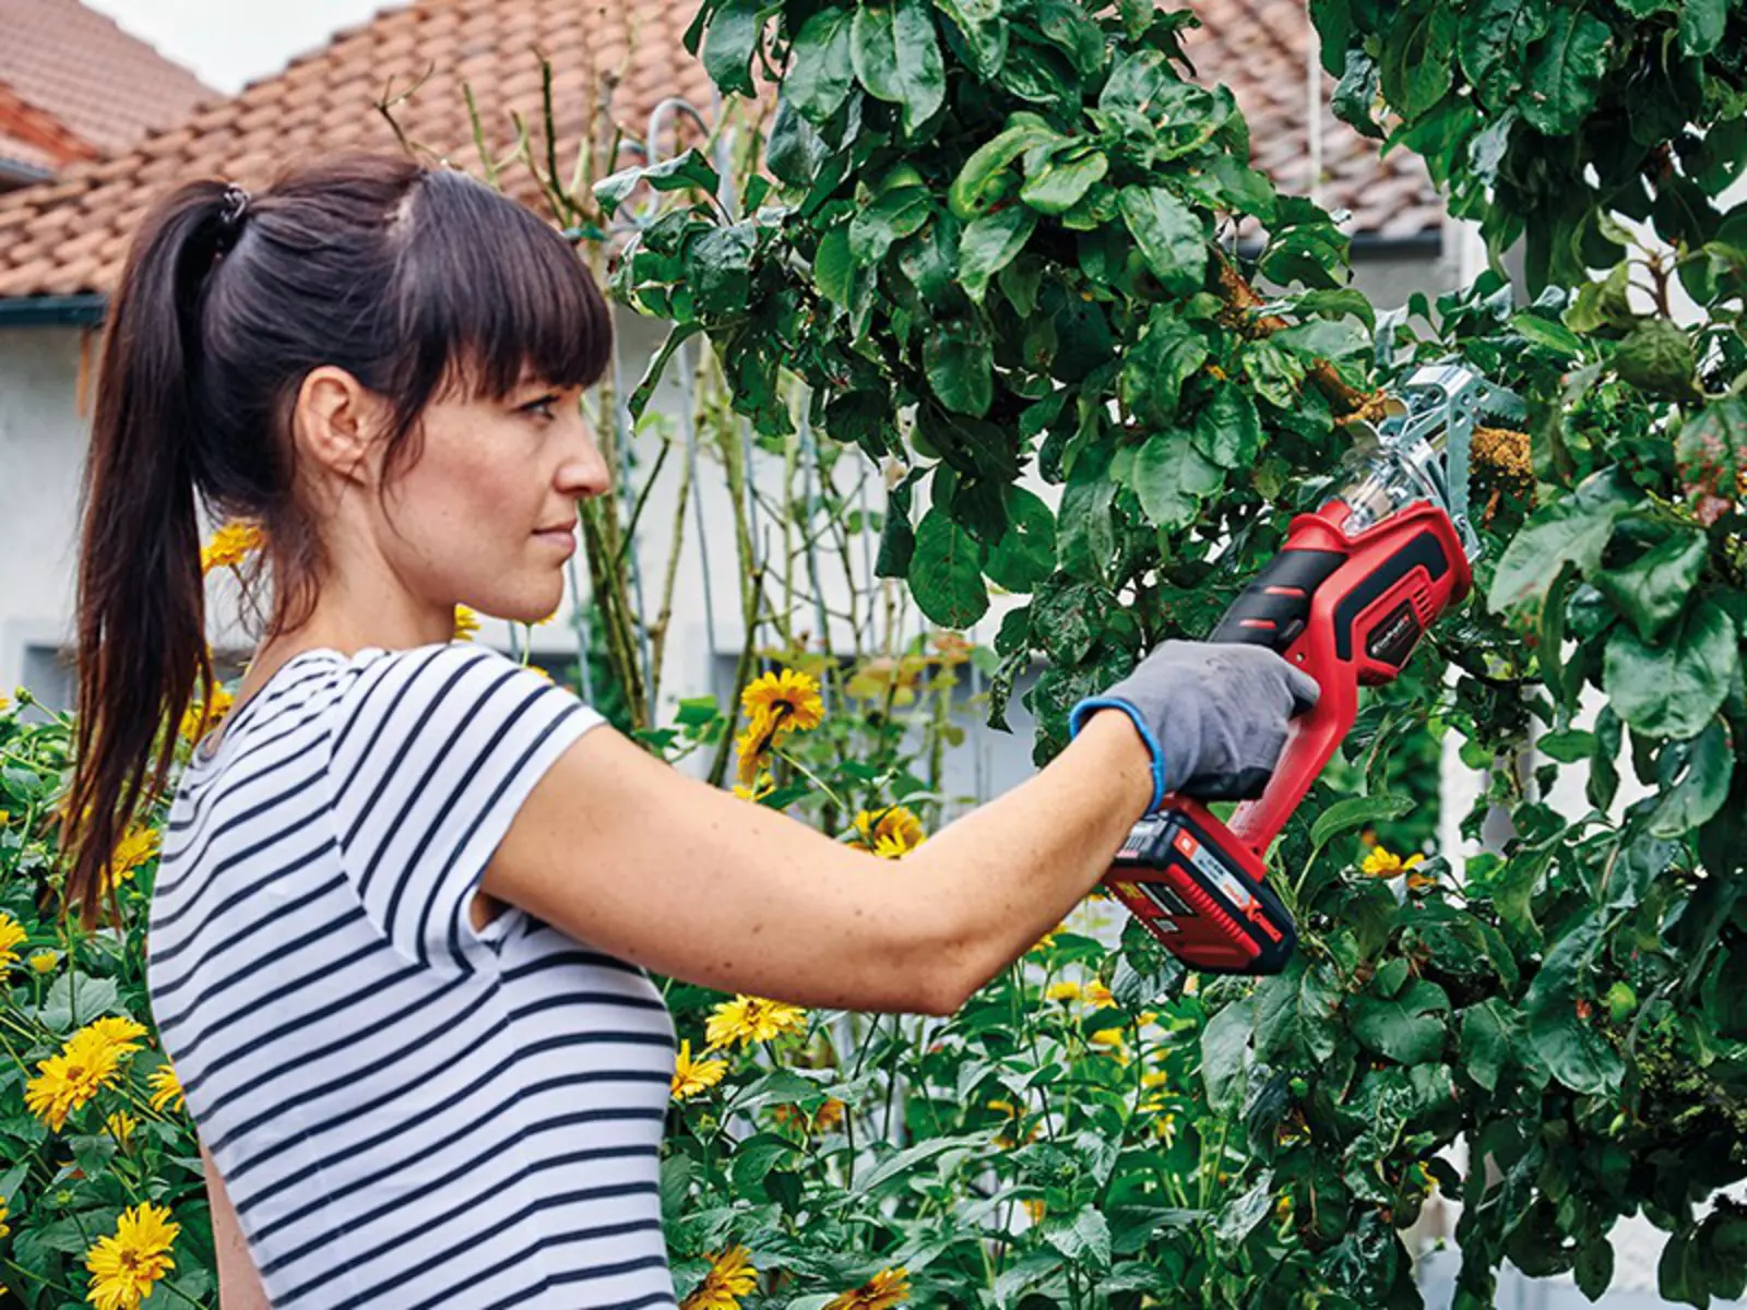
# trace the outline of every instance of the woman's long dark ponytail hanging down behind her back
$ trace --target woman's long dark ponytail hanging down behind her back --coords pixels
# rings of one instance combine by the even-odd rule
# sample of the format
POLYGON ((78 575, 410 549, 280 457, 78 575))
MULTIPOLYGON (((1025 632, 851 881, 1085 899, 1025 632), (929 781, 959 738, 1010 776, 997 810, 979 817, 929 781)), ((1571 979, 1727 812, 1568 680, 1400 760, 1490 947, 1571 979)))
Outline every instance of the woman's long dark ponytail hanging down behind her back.
POLYGON ((194 182, 147 215, 110 300, 79 494, 77 725, 61 809, 63 914, 119 920, 115 844, 159 795, 196 679, 213 688, 201 575, 201 299, 236 192, 194 182), (168 725, 168 732, 162 732, 168 725), (143 802, 143 803, 142 803, 143 802))

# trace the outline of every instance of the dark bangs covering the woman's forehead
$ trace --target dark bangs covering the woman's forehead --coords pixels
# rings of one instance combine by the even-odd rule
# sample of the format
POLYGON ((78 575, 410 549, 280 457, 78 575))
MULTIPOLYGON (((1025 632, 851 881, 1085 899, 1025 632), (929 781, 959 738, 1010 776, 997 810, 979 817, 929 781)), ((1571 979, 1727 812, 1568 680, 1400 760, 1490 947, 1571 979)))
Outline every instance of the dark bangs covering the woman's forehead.
POLYGON ((613 349, 606 300, 538 215, 465 173, 432 169, 407 218, 405 327, 419 374, 493 400, 529 379, 601 379, 613 349))

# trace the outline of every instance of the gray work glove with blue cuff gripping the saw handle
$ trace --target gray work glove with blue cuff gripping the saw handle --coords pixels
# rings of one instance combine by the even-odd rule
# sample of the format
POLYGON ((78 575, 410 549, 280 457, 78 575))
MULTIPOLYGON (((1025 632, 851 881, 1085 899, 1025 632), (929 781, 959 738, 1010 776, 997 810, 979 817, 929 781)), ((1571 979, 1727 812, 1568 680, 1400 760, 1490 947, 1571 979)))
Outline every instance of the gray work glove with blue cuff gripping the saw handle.
POLYGON ((1321 688, 1267 646, 1162 641, 1134 672, 1067 714, 1078 737, 1099 709, 1122 709, 1153 753, 1151 814, 1167 795, 1254 800, 1268 784, 1288 720, 1321 688))

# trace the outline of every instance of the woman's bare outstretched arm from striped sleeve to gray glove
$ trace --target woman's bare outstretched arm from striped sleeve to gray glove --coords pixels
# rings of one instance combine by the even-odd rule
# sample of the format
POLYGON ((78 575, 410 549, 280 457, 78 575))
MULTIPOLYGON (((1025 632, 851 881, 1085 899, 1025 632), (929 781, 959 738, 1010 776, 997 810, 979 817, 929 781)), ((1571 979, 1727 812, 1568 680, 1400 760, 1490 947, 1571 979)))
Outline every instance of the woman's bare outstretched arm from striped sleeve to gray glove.
POLYGON ((947 1015, 1097 884, 1151 795, 1134 725, 1101 711, 1036 776, 880 859, 603 725, 535 784, 480 889, 704 987, 947 1015))

